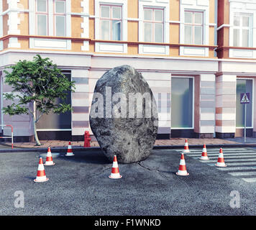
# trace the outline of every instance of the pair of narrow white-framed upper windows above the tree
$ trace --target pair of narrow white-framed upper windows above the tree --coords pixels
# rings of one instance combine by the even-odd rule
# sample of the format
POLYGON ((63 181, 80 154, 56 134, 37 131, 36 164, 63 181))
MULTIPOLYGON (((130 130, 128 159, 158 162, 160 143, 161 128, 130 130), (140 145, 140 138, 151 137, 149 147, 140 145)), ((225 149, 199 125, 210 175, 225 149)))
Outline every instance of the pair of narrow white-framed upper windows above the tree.
POLYGON ((35 0, 36 7, 36 34, 42 36, 49 35, 49 8, 53 11, 53 35, 65 37, 65 0, 54 0, 53 5, 49 6, 47 0, 35 0))

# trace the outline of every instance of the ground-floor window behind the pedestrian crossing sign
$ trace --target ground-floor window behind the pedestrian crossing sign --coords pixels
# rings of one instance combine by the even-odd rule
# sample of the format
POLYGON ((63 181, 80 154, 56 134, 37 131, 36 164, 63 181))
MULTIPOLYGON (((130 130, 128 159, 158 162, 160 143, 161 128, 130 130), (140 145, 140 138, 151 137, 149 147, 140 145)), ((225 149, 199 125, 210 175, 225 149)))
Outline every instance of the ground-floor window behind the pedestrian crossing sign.
POLYGON ((252 79, 237 79, 237 128, 244 127, 244 104, 240 103, 240 93, 250 93, 250 103, 247 103, 246 106, 246 126, 247 128, 252 127, 252 85, 252 79))

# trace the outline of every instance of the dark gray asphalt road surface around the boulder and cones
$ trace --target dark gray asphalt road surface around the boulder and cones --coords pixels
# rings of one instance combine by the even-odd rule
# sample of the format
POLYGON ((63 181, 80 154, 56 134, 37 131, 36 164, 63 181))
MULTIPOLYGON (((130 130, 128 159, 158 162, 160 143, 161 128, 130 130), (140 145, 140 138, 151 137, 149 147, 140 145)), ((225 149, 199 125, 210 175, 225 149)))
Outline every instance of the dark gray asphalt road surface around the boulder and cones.
MULTIPOLYGON (((213 161, 218 157, 216 151, 209 149, 213 161)), ((256 158, 256 149, 233 152, 241 151, 244 155, 251 152, 245 160, 256 158)), ((201 149, 185 155, 188 176, 175 175, 180 163, 178 150, 157 149, 145 161, 119 163, 119 180, 108 178, 112 162, 103 153, 73 152, 73 157, 60 153, 53 159, 54 166, 45 166, 49 178, 45 183, 33 181, 40 153, 1 153, 0 215, 256 215, 256 182, 219 170, 212 162, 201 162, 197 157, 201 149), (17 191, 24 194, 24 208, 14 206, 21 198, 17 191), (239 208, 230 206, 234 191, 239 193, 239 208)), ((227 152, 224 149, 225 162, 239 164, 241 157, 227 152)), ((256 167, 250 172, 256 172, 256 167)))

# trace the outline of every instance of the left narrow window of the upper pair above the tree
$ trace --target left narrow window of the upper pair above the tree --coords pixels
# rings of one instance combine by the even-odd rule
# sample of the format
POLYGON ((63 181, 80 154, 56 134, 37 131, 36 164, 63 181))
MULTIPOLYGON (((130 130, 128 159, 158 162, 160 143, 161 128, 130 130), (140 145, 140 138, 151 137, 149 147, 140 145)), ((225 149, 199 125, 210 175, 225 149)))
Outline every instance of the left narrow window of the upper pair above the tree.
POLYGON ((36 32, 37 35, 48 35, 48 6, 47 0, 36 1, 36 32))

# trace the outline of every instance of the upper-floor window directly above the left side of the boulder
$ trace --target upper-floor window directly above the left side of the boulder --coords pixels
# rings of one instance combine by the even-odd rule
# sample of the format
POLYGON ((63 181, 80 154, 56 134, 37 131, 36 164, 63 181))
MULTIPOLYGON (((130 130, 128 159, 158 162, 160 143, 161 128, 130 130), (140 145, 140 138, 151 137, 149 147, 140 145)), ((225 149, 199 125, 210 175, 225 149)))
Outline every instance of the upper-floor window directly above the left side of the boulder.
POLYGON ((101 40, 122 40, 122 6, 101 5, 101 40))

